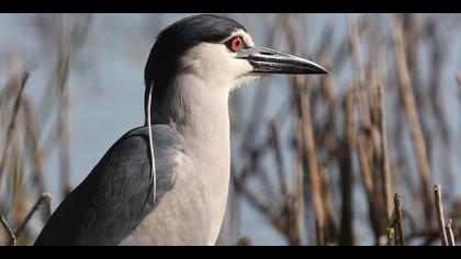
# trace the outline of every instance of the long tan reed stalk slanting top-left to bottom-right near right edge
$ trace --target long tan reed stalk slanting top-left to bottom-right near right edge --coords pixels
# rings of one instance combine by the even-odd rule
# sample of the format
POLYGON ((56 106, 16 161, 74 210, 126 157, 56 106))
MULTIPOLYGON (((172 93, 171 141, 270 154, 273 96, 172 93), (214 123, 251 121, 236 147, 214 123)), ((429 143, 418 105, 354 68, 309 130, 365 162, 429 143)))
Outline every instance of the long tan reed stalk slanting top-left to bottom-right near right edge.
POLYGON ((420 181, 421 181, 421 198, 425 207, 425 217, 428 228, 432 224, 434 213, 430 210, 430 179, 431 172, 429 167, 429 160, 427 157, 427 149, 425 139, 423 136, 421 125, 419 123, 419 115, 416 106, 415 95, 412 90, 412 80, 409 77, 408 66, 405 58, 404 43, 403 43, 403 33, 401 20, 395 19, 394 30, 394 54, 395 60, 397 63, 397 71, 400 79, 400 90, 405 105, 405 111, 409 121, 412 137, 414 143, 414 148, 416 153, 416 158, 418 161, 420 181))

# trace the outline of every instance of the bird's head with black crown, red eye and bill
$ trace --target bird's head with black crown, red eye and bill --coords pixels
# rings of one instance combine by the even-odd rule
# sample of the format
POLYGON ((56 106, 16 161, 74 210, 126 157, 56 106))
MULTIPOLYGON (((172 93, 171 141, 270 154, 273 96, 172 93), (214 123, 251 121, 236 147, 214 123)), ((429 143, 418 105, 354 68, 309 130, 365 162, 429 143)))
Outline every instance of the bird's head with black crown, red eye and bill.
POLYGON ((188 71, 212 82, 211 87, 228 90, 261 75, 327 74, 304 58, 258 47, 241 24, 213 14, 182 19, 158 35, 145 69, 154 101, 161 100, 178 72, 188 71))

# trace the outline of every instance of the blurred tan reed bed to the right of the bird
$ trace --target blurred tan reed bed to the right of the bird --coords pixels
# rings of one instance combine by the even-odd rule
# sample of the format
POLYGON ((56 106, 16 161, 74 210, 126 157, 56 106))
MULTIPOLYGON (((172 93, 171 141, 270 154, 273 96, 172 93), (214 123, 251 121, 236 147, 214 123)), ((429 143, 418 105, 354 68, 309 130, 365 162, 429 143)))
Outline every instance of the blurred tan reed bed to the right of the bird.
MULTIPOLYGON (((442 38, 453 35, 451 27, 459 19, 348 14, 344 18, 348 34, 336 45, 334 26, 324 27, 319 41, 308 42, 316 49, 310 57, 326 66, 329 77, 299 76, 291 88, 280 86, 291 91, 291 99, 269 121, 258 120, 260 112, 236 119, 259 122, 241 132, 257 131, 268 140, 248 145, 236 134, 247 151, 233 154, 233 165, 243 165, 233 170, 235 195, 265 215, 288 245, 456 245, 459 228, 453 224, 459 216, 448 218, 441 210, 459 199, 451 194, 459 182, 451 166, 457 134, 450 131, 452 114, 443 103, 457 86, 442 77, 450 55, 442 38), (428 60, 428 69, 420 67, 421 60, 428 60), (341 72, 352 79, 344 80, 341 72), (280 134, 274 133, 273 121, 283 121, 278 128, 288 128, 278 137, 289 139, 284 147, 269 140, 280 134), (280 159, 280 149, 285 150, 285 160, 280 159), (260 162, 273 156, 276 166, 260 162), (281 167, 289 161, 294 166, 281 167), (281 168, 294 183, 285 188, 279 177, 267 184, 267 174, 281 168), (292 171, 286 173, 286 168, 292 171), (245 184, 249 181, 259 183, 263 194, 257 195, 254 182, 245 184), (440 185, 447 188, 443 195, 449 200, 441 199, 440 185), (358 230, 363 228, 364 235, 358 230)), ((280 29, 272 26, 268 34, 280 37, 286 52, 308 56, 300 43, 311 38, 303 24, 314 21, 304 14, 280 14, 276 20, 280 29), (303 30, 305 34, 300 33, 303 30)), ((460 76, 453 76, 459 88, 460 76)), ((270 83, 265 81, 258 91, 270 83)), ((252 102, 262 111, 259 98, 255 94, 252 102)))

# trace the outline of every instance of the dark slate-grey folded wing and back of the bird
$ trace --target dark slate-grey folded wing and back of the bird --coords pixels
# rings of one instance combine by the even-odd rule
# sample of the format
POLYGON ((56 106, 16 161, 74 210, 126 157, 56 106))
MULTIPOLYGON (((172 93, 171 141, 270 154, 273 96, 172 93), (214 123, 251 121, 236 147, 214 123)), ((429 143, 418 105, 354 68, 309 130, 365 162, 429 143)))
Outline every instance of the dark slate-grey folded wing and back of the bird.
MULTIPOLYGON (((56 209, 35 245, 116 245, 153 212, 177 181, 183 148, 167 125, 154 125, 157 199, 150 185, 148 130, 120 138, 56 209)), ((155 212, 154 212, 155 213, 155 212)))

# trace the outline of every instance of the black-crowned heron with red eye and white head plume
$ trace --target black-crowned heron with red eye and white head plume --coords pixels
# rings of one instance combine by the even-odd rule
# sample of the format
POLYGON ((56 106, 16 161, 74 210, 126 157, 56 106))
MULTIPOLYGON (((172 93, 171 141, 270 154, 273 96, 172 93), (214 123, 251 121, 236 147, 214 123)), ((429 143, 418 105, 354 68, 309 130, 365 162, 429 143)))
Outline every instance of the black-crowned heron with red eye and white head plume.
POLYGON ((257 46, 224 15, 167 26, 144 70, 144 125, 110 147, 34 245, 215 245, 231 178, 228 97, 270 74, 328 71, 257 46))

